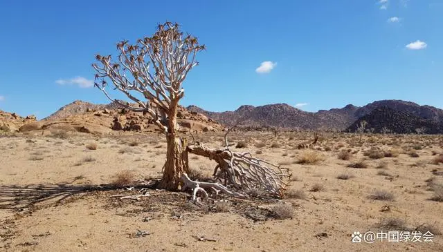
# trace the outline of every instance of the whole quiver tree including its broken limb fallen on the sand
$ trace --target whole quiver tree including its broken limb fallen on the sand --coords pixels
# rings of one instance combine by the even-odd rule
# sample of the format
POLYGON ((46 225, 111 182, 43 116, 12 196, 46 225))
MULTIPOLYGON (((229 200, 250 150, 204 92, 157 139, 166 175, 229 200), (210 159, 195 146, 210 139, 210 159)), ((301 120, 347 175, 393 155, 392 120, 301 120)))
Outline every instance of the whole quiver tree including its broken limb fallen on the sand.
MULTIPOLYGON (((177 108, 184 96, 182 84, 188 72, 197 66, 197 52, 204 48, 196 37, 183 35, 177 23, 163 23, 152 37, 138 39, 136 44, 117 43, 117 61, 113 61, 111 55, 97 55, 98 64, 92 65, 97 72, 95 86, 116 104, 152 117, 165 135, 168 150, 159 188, 175 191, 183 183, 182 188, 193 189, 194 197, 198 191, 206 194, 208 188, 246 197, 241 192, 257 187, 270 195, 282 196, 286 188, 283 179, 289 177, 287 170, 256 159, 250 153, 233 153, 228 147, 213 150, 204 144, 188 146, 186 138, 179 135, 177 108), (107 91, 108 83, 136 106, 113 99, 107 91), (186 174, 189 171, 188 152, 215 160, 215 177, 224 185, 190 180, 186 174), (228 188, 240 193, 233 193, 228 188)), ((228 146, 226 135, 225 141, 228 146)))

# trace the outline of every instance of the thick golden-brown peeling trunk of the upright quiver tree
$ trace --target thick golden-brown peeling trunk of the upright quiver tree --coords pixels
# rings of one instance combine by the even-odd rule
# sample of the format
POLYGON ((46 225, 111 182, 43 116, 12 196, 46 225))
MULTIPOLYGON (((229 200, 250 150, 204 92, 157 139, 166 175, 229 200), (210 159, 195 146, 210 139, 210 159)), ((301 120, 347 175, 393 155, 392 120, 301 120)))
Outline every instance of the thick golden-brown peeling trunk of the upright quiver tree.
POLYGON ((189 171, 188 152, 186 151, 188 143, 186 139, 178 137, 177 107, 178 100, 172 100, 168 115, 169 134, 166 136, 168 151, 166 153, 163 177, 159 184, 159 188, 168 191, 176 191, 179 188, 181 175, 189 171))

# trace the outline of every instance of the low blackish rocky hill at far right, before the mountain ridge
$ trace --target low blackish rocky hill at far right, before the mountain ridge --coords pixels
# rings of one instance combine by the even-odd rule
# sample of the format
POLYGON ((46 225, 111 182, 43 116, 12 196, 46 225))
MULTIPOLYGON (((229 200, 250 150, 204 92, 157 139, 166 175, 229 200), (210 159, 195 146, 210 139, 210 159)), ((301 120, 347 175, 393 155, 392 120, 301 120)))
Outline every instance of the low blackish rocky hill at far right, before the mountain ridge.
POLYGON ((349 126, 346 131, 356 132, 361 121, 367 123, 366 129, 374 133, 382 133, 383 127, 395 133, 417 133, 421 130, 426 134, 442 134, 443 123, 435 122, 433 119, 424 119, 412 112, 394 110, 387 106, 375 108, 368 115, 363 115, 349 126))

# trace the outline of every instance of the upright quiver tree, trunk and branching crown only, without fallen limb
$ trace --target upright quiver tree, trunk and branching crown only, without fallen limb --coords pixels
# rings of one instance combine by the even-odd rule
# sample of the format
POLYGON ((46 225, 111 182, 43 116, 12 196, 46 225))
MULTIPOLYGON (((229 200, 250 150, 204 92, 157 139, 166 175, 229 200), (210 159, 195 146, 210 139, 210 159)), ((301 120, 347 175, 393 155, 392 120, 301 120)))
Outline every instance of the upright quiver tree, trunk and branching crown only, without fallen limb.
POLYGON ((168 145, 160 187, 176 190, 181 175, 188 171, 186 139, 178 135, 177 108, 184 95, 183 81, 197 66, 195 56, 204 45, 196 37, 183 35, 177 23, 166 22, 152 37, 138 39, 135 44, 121 41, 117 50, 116 60, 111 55, 96 56, 98 64, 92 65, 97 72, 95 85, 116 104, 153 118, 168 145), (107 92, 109 84, 136 106, 112 98, 107 92))

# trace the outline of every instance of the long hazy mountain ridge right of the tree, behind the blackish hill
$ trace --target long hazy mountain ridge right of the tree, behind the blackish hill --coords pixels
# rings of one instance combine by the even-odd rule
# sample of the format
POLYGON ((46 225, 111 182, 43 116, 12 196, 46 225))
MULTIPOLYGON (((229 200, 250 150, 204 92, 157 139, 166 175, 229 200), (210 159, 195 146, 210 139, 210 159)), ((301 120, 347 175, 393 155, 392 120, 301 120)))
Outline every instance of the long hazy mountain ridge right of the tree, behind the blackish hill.
MULTIPOLYGON (((373 110, 381 107, 390 108, 399 113, 413 115, 424 120, 423 122, 429 122, 428 124, 425 123, 429 127, 438 126, 443 122, 442 109, 427 105, 420 106, 414 102, 402 100, 374 101, 362 107, 348 104, 343 108, 319 110, 316 113, 302 111, 288 104, 269 104, 257 107, 243 105, 235 111, 225 111, 221 113, 206 111, 197 106, 188 106, 187 109, 202 113, 226 126, 233 126, 237 122, 241 122, 241 126, 255 128, 273 127, 304 130, 347 130, 350 129, 349 127, 361 117, 369 115, 373 110)), ((389 121, 389 118, 390 117, 386 117, 386 121, 381 122, 381 124, 387 128, 394 123, 389 121)), ((419 120, 414 120, 413 122, 418 124, 419 120)), ((421 121, 419 125, 422 125, 421 121)))

